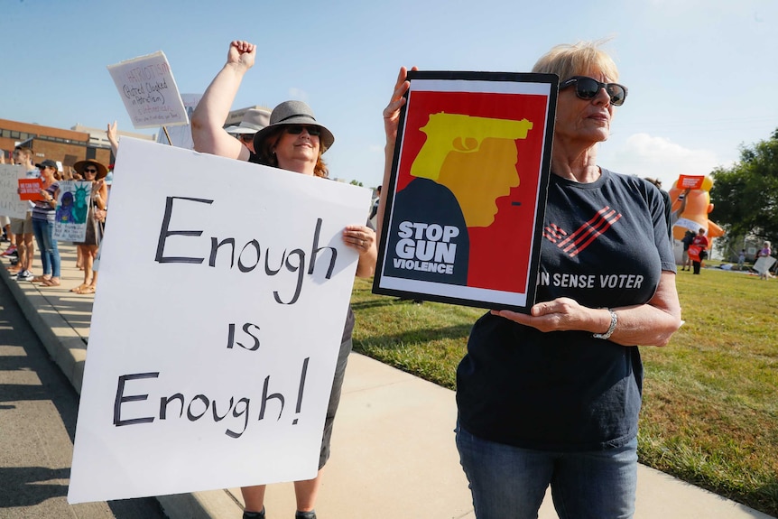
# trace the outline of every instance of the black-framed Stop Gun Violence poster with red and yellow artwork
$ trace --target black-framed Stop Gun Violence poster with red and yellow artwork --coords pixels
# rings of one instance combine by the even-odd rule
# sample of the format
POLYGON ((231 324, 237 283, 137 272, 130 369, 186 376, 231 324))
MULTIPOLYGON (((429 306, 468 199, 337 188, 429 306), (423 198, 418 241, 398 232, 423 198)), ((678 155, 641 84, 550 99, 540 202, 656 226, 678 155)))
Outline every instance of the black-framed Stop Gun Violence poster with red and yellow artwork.
POLYGON ((373 292, 529 312, 552 74, 409 71, 373 292))

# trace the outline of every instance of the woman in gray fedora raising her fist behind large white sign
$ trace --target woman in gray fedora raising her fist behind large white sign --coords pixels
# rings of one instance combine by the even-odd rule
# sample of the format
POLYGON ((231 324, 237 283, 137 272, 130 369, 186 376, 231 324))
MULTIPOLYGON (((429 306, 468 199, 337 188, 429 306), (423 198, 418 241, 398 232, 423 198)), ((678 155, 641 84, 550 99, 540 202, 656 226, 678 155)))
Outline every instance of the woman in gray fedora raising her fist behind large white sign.
MULTIPOLYGON (((245 72, 254 66, 255 57, 256 47, 253 43, 230 43, 227 63, 211 81, 192 114, 192 141, 195 150, 326 178, 328 170, 321 155, 335 142, 335 136, 327 127, 317 122, 313 111, 302 101, 284 101, 273 108, 269 125, 254 136, 255 153, 223 128, 237 89, 245 72)), ((373 275, 378 255, 375 231, 366 225, 347 226, 343 230, 343 241, 359 253, 357 276, 373 275)), ((353 329, 354 314, 349 306, 322 433, 319 473, 313 479, 294 482, 296 519, 316 518, 313 508, 320 487, 321 468, 329 459, 329 440, 335 412, 338 410, 347 358, 351 351, 353 329)), ((264 490, 264 485, 241 488, 245 501, 244 519, 264 519, 264 490)))

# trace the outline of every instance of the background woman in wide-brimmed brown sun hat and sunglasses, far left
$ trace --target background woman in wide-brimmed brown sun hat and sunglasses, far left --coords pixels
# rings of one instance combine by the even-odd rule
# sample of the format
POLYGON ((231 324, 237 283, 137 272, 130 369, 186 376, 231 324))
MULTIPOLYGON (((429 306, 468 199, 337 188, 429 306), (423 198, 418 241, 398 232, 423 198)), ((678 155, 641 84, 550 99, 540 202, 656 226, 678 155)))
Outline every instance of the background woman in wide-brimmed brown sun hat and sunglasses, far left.
MULTIPOLYGON (((108 186, 105 181, 108 168, 105 164, 94 159, 87 159, 73 164, 73 169, 83 176, 84 181, 92 182, 91 197, 87 209, 87 234, 84 241, 77 243, 81 252, 81 261, 84 267, 84 283, 70 290, 70 292, 88 294, 95 293, 97 286, 97 272, 92 270, 97 247, 102 239, 102 226, 97 222, 97 209, 106 209, 108 200, 108 186)), ((83 210, 81 209, 81 210, 83 210)))

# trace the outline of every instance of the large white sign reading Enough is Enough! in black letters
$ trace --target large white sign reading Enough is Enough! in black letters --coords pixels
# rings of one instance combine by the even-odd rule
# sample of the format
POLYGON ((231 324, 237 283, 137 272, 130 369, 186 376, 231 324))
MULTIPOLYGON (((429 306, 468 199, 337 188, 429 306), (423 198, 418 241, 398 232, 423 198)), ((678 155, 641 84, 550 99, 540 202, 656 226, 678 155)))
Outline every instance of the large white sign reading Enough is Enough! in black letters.
POLYGON ((70 503, 315 477, 370 191, 122 139, 70 503))

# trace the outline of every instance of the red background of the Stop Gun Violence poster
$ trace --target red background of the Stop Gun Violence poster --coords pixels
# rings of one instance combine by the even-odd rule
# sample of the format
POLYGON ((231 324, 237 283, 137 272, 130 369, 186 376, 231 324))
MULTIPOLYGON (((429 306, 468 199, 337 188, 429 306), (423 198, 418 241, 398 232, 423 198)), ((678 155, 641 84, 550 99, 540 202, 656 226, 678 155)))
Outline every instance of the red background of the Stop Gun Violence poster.
POLYGON ((533 123, 527 137, 515 141, 519 185, 508 196, 496 199, 497 214, 492 225, 468 227, 470 287, 527 292, 548 104, 549 97, 529 94, 425 91, 410 94, 395 192, 403 190, 414 178, 410 174, 411 166, 427 139, 420 128, 427 124, 431 114, 527 119, 533 123))

